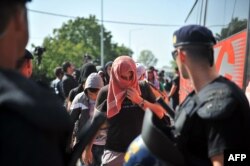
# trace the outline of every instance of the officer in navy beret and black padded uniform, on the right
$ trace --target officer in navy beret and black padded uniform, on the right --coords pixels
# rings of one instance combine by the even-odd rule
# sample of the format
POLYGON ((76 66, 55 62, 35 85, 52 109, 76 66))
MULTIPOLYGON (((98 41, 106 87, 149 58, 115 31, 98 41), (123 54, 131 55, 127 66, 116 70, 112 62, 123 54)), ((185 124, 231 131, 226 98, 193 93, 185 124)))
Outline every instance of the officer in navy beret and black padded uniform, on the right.
POLYGON ((239 87, 214 66, 212 32, 187 25, 173 35, 172 53, 194 90, 177 109, 175 135, 186 165, 223 165, 227 150, 249 150, 250 109, 239 87))

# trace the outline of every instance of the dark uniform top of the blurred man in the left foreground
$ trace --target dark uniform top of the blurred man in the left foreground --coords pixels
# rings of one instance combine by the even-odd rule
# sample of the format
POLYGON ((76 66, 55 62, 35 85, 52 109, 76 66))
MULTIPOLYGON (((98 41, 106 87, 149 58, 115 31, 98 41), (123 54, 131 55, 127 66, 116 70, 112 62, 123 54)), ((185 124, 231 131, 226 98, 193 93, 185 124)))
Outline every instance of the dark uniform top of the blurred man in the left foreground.
POLYGON ((72 128, 56 95, 0 70, 0 165, 65 165, 72 128))

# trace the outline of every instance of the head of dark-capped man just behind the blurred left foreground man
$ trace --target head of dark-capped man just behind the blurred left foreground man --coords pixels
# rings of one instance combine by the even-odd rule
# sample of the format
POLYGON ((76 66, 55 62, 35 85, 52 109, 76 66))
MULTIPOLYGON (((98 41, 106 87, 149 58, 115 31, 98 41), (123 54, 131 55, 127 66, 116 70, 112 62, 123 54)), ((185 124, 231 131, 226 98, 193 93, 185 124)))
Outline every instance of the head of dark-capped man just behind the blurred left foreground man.
POLYGON ((31 52, 25 49, 24 56, 17 61, 16 68, 24 77, 27 78, 31 77, 33 70, 33 64, 32 64, 33 59, 34 57, 31 54, 31 52))

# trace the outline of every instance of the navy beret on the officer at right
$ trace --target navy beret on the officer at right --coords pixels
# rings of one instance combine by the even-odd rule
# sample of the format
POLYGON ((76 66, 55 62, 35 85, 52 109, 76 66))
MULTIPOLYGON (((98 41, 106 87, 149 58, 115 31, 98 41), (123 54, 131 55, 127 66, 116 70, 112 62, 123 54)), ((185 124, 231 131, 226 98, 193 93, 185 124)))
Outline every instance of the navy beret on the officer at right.
POLYGON ((207 45, 213 46, 216 44, 216 40, 212 32, 200 25, 187 25, 181 27, 174 32, 173 45, 174 47, 184 45, 207 45))

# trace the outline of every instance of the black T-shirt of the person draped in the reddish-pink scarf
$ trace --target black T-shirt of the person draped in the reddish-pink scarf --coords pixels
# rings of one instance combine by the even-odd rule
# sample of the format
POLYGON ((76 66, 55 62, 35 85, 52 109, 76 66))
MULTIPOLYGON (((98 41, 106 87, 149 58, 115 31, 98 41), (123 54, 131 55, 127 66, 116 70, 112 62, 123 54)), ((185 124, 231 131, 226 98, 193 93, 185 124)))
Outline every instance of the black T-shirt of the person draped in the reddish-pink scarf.
MULTIPOLYGON (((142 96, 154 102, 155 97, 146 84, 140 84, 142 96), (146 90, 146 88, 148 90, 146 90)), ((96 100, 96 108, 107 99, 108 85, 103 87, 96 100)), ((106 108, 106 107, 103 107, 106 108)), ((99 110, 106 113, 106 109, 99 110)), ((144 110, 125 98, 121 105, 120 112, 108 121, 108 133, 106 149, 125 153, 129 144, 141 133, 144 110)))

